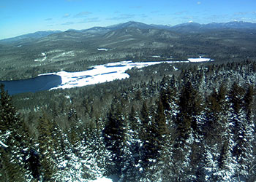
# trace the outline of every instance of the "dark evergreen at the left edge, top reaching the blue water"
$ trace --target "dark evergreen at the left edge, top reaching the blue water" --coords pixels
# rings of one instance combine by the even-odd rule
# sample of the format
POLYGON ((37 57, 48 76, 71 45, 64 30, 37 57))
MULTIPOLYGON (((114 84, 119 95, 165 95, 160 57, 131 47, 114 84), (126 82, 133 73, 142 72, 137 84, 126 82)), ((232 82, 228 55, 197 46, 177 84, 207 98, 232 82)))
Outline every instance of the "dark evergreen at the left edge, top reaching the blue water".
POLYGON ((5 181, 25 181, 31 179, 31 172, 26 167, 27 150, 29 147, 29 132, 20 119, 15 107, 12 106, 12 98, 4 91, 1 84, 0 98, 0 141, 1 146, 1 175, 5 181))

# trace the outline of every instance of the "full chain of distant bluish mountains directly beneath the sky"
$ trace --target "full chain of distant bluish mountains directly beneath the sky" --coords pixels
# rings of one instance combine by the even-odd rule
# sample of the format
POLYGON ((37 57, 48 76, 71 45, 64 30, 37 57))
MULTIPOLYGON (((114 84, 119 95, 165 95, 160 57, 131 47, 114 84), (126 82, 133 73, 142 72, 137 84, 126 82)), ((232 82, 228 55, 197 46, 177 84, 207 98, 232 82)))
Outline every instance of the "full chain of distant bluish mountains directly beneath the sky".
MULTIPOLYGON (((95 36, 105 36, 110 37, 113 35, 116 36, 124 36, 122 34, 125 33, 127 36, 126 29, 129 29, 129 33, 133 35, 143 35, 146 31, 142 30, 167 30, 167 31, 174 31, 177 33, 197 33, 197 32, 204 32, 209 30, 221 30, 221 29, 256 29, 256 23, 248 23, 242 21, 234 21, 228 23, 208 23, 208 24, 200 24, 200 23, 181 23, 178 25, 170 26, 170 25, 147 25, 145 23, 129 21, 127 23, 119 23, 116 25, 110 25, 107 27, 93 27, 84 30, 74 30, 69 29, 67 31, 37 31, 35 33, 29 33, 22 36, 16 36, 10 39, 2 39, 0 40, 0 44, 7 44, 7 43, 14 43, 14 44, 24 44, 31 41, 37 41, 39 39, 66 39, 66 38, 75 38, 80 39, 95 37, 95 36), (133 28, 133 29, 130 29, 133 28), (119 31, 122 30, 122 31, 119 31), (47 38, 47 36, 50 36, 47 38)), ((168 33, 164 33, 165 36, 169 36, 168 33)))

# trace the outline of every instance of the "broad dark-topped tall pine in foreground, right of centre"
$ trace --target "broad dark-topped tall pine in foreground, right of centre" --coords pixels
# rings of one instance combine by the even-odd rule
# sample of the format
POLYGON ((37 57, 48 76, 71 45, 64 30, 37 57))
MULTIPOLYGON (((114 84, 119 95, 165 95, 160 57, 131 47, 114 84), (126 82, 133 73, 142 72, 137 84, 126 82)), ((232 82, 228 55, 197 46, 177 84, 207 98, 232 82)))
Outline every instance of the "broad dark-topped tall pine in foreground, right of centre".
MULTIPOLYGON (((176 116, 176 138, 173 147, 173 178, 176 181, 193 181, 196 178, 197 167, 200 165, 202 141, 202 99, 192 87, 191 82, 184 84, 178 100, 176 116), (199 155, 198 155, 199 154, 199 155), (186 173, 187 175, 180 175, 186 173)), ((175 137, 175 136, 174 136, 175 137)))

